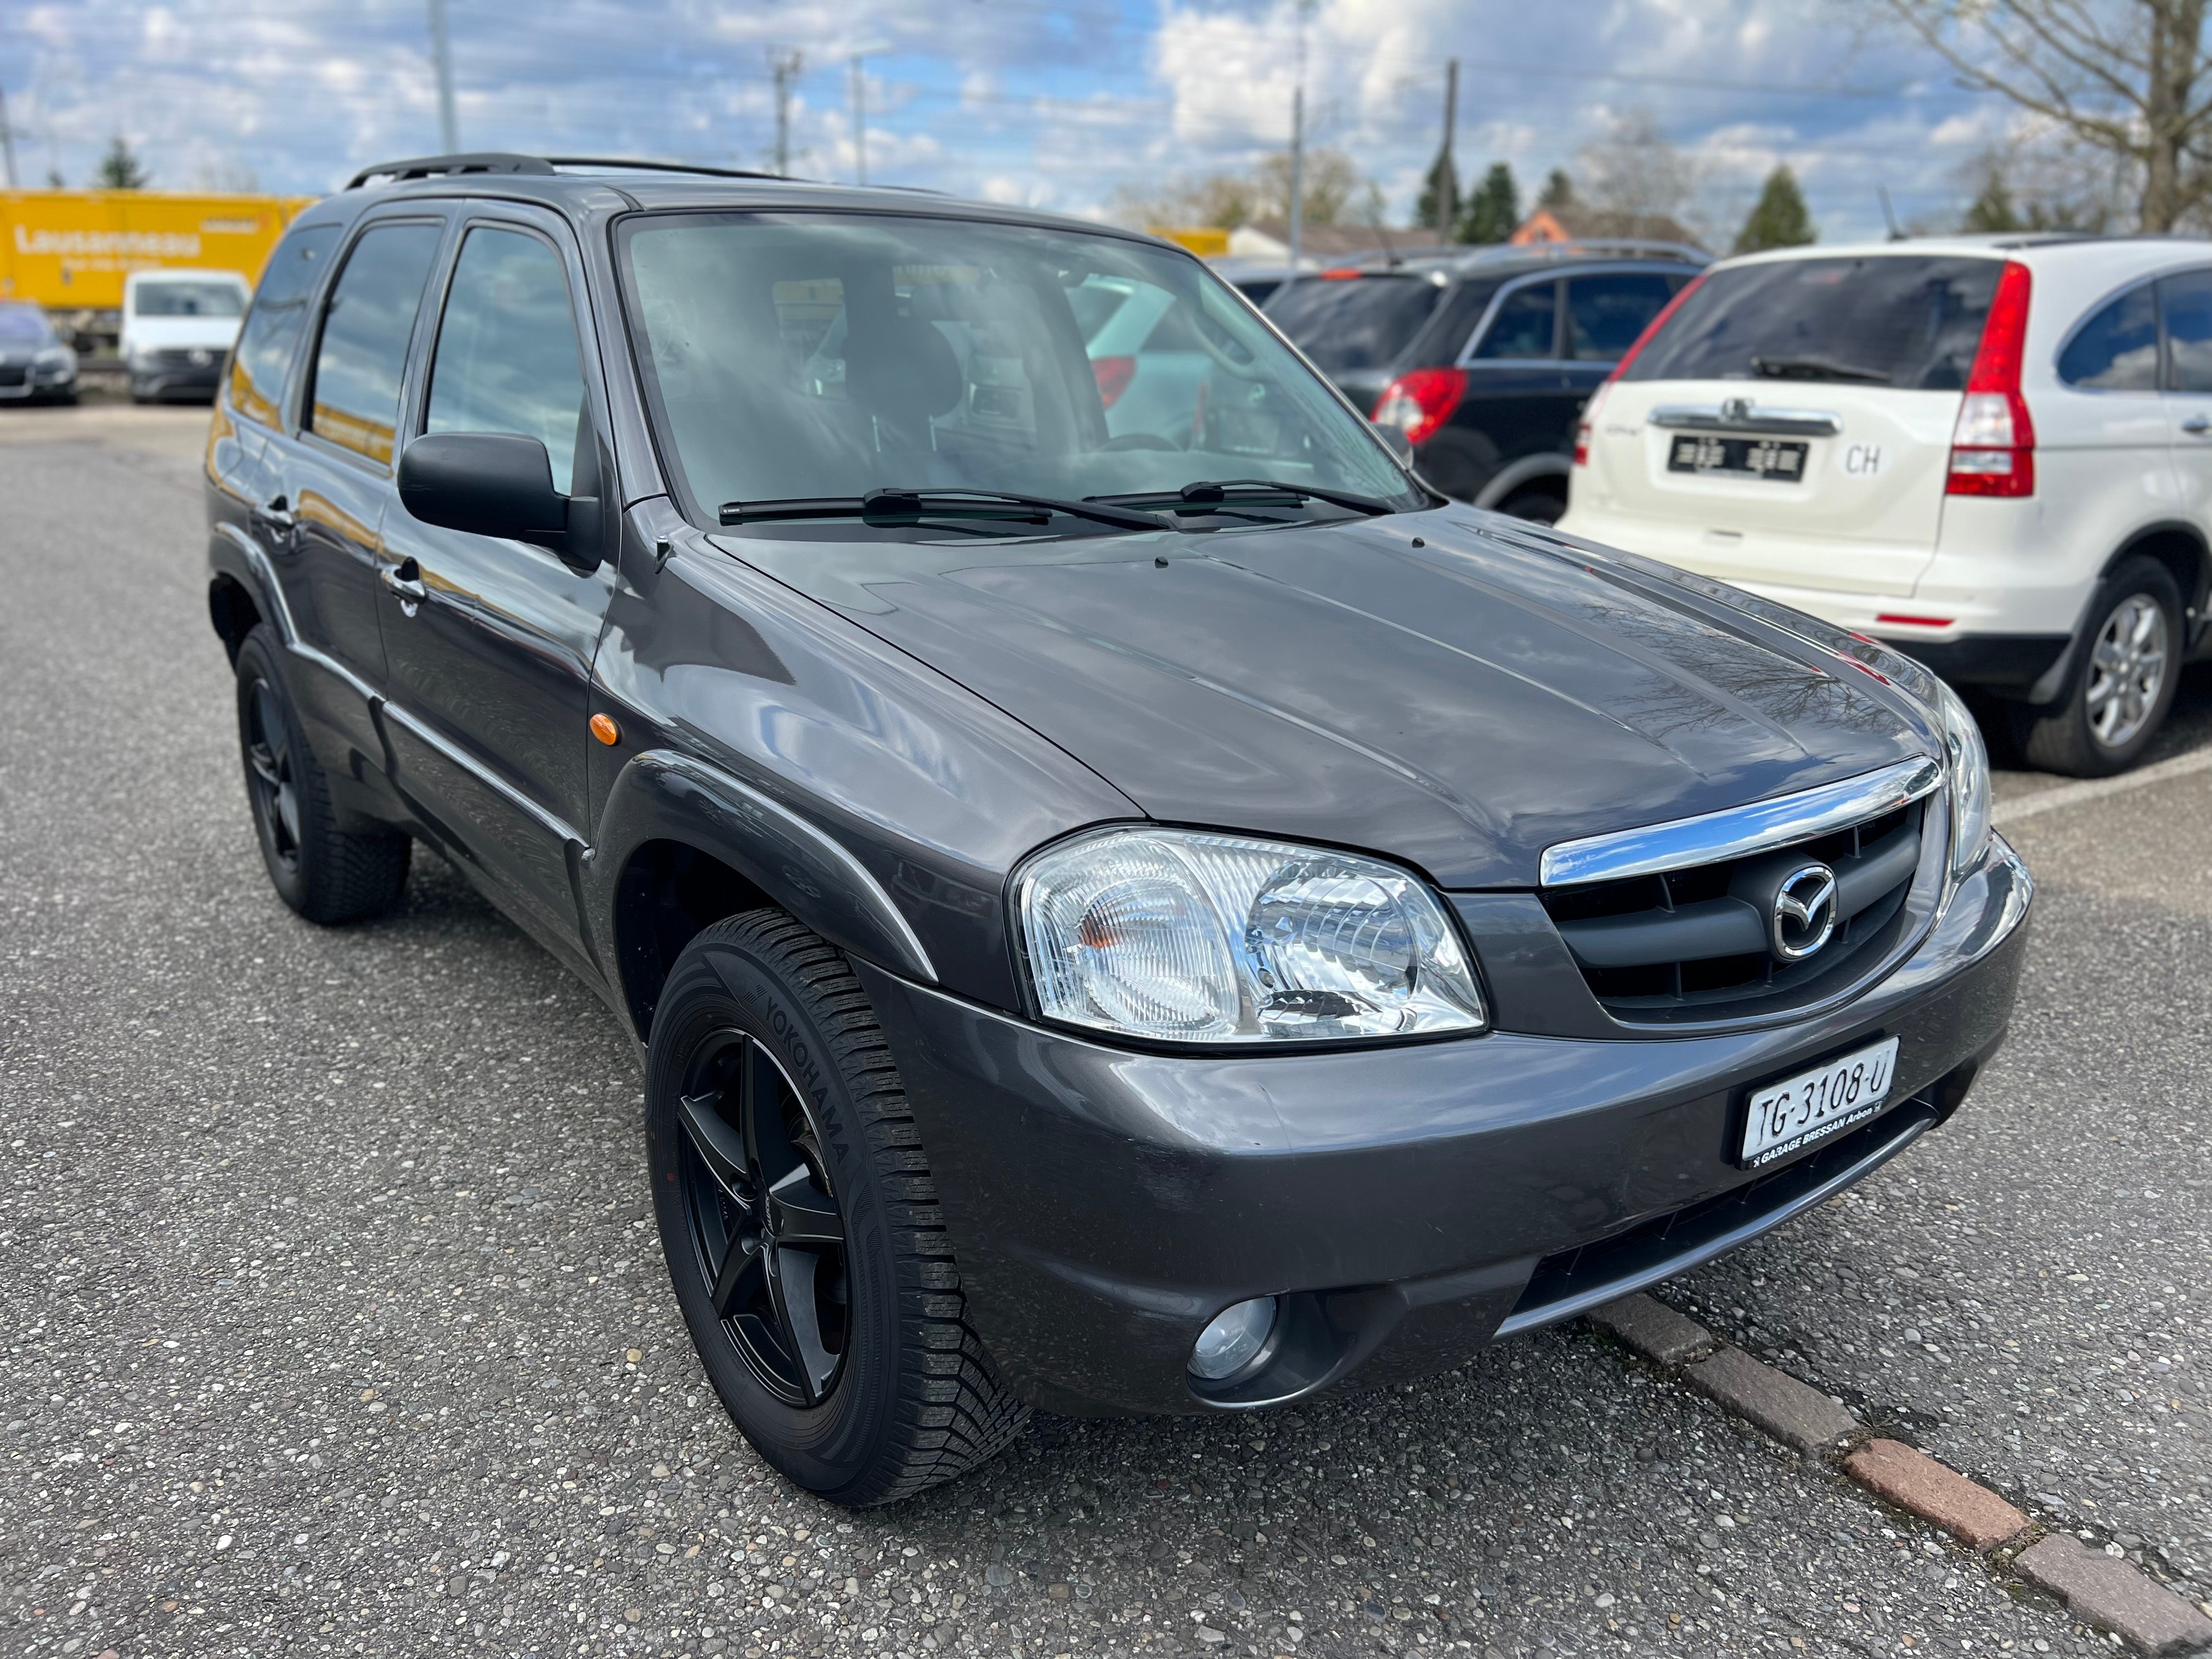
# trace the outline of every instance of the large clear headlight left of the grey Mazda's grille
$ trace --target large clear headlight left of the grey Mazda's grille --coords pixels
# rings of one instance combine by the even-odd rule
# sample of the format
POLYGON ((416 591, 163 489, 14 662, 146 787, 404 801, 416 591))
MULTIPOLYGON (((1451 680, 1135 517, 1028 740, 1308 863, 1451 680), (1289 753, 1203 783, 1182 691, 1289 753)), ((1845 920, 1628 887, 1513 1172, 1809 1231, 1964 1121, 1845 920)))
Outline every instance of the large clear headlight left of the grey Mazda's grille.
POLYGON ((1194 830, 1102 830, 1015 878, 1037 1011, 1159 1042, 1480 1031, 1444 907, 1378 858, 1194 830))

